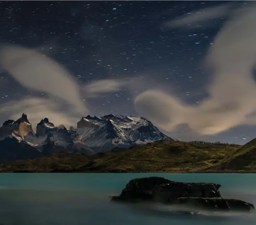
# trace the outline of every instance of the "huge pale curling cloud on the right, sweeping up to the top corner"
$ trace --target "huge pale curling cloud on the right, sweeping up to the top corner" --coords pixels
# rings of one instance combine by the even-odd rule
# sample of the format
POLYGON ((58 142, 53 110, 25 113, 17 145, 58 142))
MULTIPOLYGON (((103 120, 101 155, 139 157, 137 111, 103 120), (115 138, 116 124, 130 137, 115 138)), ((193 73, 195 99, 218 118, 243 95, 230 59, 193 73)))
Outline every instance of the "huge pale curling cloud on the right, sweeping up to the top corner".
MULTIPOLYGON (((252 77, 256 63, 255 6, 251 3, 234 10, 234 17, 224 24, 208 50, 205 66, 215 73, 206 87, 208 99, 196 106, 187 105, 161 90, 148 90, 135 98, 136 111, 169 132, 180 124, 187 124, 200 135, 214 135, 238 125, 256 125, 256 85, 252 77)), ((215 15, 213 11, 210 10, 211 15, 215 15)))

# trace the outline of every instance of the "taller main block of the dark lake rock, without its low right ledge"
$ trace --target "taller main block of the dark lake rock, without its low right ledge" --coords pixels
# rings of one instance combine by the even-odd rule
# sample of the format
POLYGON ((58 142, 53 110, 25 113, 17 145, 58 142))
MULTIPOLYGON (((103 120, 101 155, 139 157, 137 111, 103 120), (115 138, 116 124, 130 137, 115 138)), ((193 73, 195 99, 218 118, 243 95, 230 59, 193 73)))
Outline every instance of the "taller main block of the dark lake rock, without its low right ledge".
POLYGON ((180 197, 220 198, 220 185, 213 183, 182 183, 165 178, 151 177, 131 180, 123 189, 120 199, 157 200, 169 202, 180 197))

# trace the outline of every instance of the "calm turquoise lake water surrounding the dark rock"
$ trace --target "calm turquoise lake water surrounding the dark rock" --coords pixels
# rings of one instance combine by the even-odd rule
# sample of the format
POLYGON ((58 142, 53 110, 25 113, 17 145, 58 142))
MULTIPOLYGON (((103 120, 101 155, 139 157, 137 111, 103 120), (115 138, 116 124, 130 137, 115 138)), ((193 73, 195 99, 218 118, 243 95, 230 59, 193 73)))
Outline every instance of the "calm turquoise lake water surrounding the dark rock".
MULTIPOLYGON (((0 174, 0 225, 255 225, 254 215, 179 215, 111 203, 133 178, 148 174, 0 174)), ((183 182, 222 185, 224 198, 256 205, 254 174, 150 174, 183 182)))

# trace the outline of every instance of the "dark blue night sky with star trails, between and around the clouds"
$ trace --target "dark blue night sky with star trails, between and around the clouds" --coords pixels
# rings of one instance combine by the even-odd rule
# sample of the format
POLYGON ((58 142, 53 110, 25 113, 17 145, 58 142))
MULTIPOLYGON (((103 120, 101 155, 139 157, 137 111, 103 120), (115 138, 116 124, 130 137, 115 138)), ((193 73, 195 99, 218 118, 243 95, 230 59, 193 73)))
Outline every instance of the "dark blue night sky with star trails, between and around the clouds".
MULTIPOLYGON (((157 87, 168 91, 172 88, 172 93, 184 102, 195 105, 207 97, 205 85, 210 82, 211 74, 202 66, 202 60, 226 17, 213 18, 210 26, 199 23, 196 29, 166 28, 164 24, 191 11, 223 3, 3 1, 0 2, 0 42, 33 48, 54 58, 81 85, 101 79, 139 77, 145 90, 157 87)), ((2 106, 28 94, 44 94, 23 87, 5 70, 0 72, 0 87, 2 106)), ((134 85, 128 90, 123 87, 87 99, 90 115, 113 113, 146 117, 136 112, 133 103, 143 88, 134 85)), ((12 119, 8 114, 0 115, 1 123, 12 119)), ((214 135, 190 135, 187 130, 186 125, 172 132, 161 129, 179 140, 244 144, 256 137, 254 125, 240 125, 214 135)))

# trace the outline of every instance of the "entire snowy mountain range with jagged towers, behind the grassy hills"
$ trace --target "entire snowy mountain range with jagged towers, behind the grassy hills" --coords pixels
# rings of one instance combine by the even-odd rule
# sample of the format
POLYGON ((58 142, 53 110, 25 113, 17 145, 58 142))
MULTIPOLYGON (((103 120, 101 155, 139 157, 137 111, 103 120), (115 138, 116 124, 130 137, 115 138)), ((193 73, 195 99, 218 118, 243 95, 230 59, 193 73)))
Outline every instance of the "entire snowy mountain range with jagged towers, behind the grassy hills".
POLYGON ((77 128, 69 129, 64 125, 56 127, 44 118, 34 132, 23 113, 18 120, 7 120, 0 128, 0 163, 40 158, 53 153, 93 155, 162 140, 177 141, 142 117, 88 115, 77 122, 77 128))

